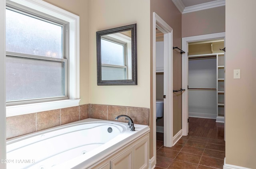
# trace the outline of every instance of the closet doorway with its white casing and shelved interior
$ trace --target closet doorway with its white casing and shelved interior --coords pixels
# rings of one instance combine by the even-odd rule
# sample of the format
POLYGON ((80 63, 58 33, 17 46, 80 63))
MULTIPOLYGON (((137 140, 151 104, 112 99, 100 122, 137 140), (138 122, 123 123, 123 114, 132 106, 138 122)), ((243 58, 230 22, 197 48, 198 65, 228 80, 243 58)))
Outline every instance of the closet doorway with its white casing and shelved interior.
POLYGON ((224 116, 219 116, 218 114, 219 111, 221 112, 220 115, 224 115, 224 111, 222 111, 224 109, 221 107, 224 105, 224 102, 222 102, 224 101, 224 51, 220 50, 222 47, 219 45, 222 41, 224 43, 225 33, 182 38, 182 50, 186 52, 182 55, 182 88, 186 89, 182 95, 183 136, 187 136, 189 132, 189 116, 196 118, 200 115, 201 118, 216 118, 217 122, 220 122, 218 121, 219 119, 221 119, 222 122, 225 121, 224 116), (202 50, 202 46, 209 44, 210 51, 206 53, 202 50), (214 47, 216 49, 214 49, 214 47), (219 65, 219 61, 222 62, 222 65, 219 65), (207 68, 208 74, 205 74, 205 72, 207 72, 206 70, 198 73, 198 69, 200 68, 198 64, 201 65, 201 67, 205 67, 204 69, 207 68), (207 64, 210 64, 211 67, 206 66, 207 64), (209 75, 212 76, 210 78, 211 80, 208 78, 209 75), (203 82, 202 79, 208 80, 204 80, 203 82), (219 91, 218 88, 222 88, 221 91, 219 91), (190 97, 197 95, 203 103, 200 102, 200 100, 198 101, 190 97), (208 101, 206 102, 206 100, 208 101), (198 107, 200 104, 201 108, 198 107), (207 109, 206 104, 208 104, 209 108, 209 110, 207 110, 209 112, 208 114, 205 112, 207 109))

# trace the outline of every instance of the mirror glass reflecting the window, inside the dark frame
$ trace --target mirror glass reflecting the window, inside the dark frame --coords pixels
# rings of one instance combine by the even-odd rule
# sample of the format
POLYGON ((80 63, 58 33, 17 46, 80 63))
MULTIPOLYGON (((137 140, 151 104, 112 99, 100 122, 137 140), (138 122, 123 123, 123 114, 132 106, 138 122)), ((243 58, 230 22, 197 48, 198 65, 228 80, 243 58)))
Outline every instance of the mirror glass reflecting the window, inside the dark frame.
POLYGON ((102 80, 132 79, 131 31, 101 36, 102 80))

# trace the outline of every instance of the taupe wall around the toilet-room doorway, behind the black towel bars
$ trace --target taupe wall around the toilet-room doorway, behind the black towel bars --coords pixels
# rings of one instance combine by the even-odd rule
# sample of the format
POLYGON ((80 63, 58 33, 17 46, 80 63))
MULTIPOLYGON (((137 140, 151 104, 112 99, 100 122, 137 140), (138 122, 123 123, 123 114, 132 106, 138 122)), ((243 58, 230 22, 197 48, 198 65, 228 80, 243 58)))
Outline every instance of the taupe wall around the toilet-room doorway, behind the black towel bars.
MULTIPOLYGON (((173 46, 177 46, 181 48, 181 13, 176 8, 171 0, 150 0, 150 35, 151 35, 151 46, 153 44, 153 12, 156 12, 158 16, 160 16, 170 27, 173 29, 173 46), (160 3, 161 2, 161 3, 160 3)), ((152 67, 152 51, 151 48, 151 67, 152 67)), ((152 81, 152 69, 151 69, 151 84, 152 81)), ((151 85, 151 110, 153 106, 153 85, 151 85)), ((181 88, 181 55, 179 52, 173 52, 173 88, 174 90, 178 90, 181 88)), ((182 120, 181 120, 181 94, 176 93, 173 94, 173 118, 174 118, 174 125, 173 125, 173 134, 175 135, 178 131, 181 130, 182 120)), ((153 124, 153 114, 150 114, 151 122, 153 124)), ((151 126, 152 130, 152 126, 151 126)), ((150 133, 150 137, 153 138, 153 133, 150 133)), ((150 158, 152 157, 153 152, 153 145, 150 143, 150 158)))

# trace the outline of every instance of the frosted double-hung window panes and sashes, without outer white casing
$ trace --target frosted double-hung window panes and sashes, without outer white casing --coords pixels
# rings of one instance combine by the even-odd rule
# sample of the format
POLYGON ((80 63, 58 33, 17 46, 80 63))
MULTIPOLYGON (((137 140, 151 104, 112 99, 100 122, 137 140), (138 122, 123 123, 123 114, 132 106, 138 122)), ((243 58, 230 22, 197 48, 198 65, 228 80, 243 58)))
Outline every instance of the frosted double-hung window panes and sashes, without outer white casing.
POLYGON ((68 98, 64 23, 6 9, 6 102, 68 98))

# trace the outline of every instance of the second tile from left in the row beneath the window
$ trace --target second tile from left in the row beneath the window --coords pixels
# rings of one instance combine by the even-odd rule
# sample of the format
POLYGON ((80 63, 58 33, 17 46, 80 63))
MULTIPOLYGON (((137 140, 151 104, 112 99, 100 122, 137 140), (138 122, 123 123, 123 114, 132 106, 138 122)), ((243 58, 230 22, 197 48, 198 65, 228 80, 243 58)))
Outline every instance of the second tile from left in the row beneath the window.
POLYGON ((36 113, 37 131, 60 126, 60 109, 36 113))

